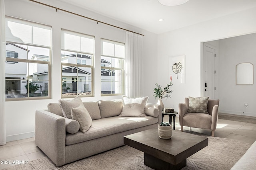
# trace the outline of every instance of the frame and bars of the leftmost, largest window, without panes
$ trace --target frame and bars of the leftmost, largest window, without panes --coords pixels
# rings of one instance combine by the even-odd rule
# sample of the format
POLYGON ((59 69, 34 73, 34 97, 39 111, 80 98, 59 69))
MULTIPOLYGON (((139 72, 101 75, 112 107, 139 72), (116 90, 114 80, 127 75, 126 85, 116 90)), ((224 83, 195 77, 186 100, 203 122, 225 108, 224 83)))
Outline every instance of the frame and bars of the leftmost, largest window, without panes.
MULTIPOLYGON (((45 25, 45 24, 41 24, 41 23, 37 23, 34 21, 28 21, 28 20, 24 20, 24 19, 20 19, 20 18, 14 18, 14 17, 10 17, 10 16, 6 16, 6 21, 12 21, 12 22, 17 22, 17 23, 28 23, 28 25, 32 26, 32 27, 40 27, 42 26, 42 28, 46 28, 50 30, 50 46, 45 46, 45 45, 38 45, 38 44, 33 44, 32 43, 21 43, 21 42, 15 42, 15 41, 8 41, 6 40, 6 44, 7 43, 11 43, 11 44, 15 44, 15 45, 26 45, 27 47, 39 47, 39 48, 45 48, 49 50, 49 58, 48 61, 38 61, 38 60, 32 60, 32 59, 20 59, 20 58, 15 58, 15 51, 14 51, 14 58, 11 57, 6 57, 8 58, 8 61, 13 61, 13 64, 16 63, 27 63, 28 65, 30 63, 34 63, 34 64, 47 64, 48 65, 48 88, 47 88, 47 92, 48 92, 48 96, 39 96, 39 97, 30 97, 29 96, 29 91, 27 90, 27 97, 24 98, 5 98, 6 101, 21 101, 21 100, 44 100, 44 99, 51 99, 52 97, 52 73, 51 73, 51 61, 52 61, 52 26, 50 25, 45 25)), ((31 34, 31 36, 33 36, 33 32, 31 34)), ((27 57, 28 57, 28 51, 27 51, 27 57)), ((20 81, 26 81, 26 85, 28 86, 29 83, 31 82, 31 79, 29 78, 30 75, 28 75, 28 70, 29 70, 29 66, 27 66, 27 75, 26 78, 24 77, 23 79, 6 79, 6 80, 20 80, 20 81)), ((6 77, 6 76, 5 76, 6 77)), ((32 79, 33 81, 33 79, 32 79)), ((37 81, 45 81, 45 80, 41 80, 38 79, 37 81)))

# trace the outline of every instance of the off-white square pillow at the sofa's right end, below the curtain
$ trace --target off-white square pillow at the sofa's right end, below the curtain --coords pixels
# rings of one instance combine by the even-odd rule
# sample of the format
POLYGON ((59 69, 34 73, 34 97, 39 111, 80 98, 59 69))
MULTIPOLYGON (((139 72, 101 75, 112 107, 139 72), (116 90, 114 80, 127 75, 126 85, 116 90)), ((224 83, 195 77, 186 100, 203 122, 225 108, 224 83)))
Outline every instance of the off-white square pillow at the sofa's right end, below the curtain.
POLYGON ((123 110, 119 116, 146 117, 145 107, 148 96, 144 98, 123 97, 123 110))

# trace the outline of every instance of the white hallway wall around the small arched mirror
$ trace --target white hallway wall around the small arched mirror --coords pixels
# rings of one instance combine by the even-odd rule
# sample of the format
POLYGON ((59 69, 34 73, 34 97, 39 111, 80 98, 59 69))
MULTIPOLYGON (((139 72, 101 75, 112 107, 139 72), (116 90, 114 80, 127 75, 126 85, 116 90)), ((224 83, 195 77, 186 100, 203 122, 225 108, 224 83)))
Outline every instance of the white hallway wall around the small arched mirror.
POLYGON ((256 116, 255 71, 253 85, 236 84, 238 63, 252 63, 255 70, 256 33, 219 40, 219 52, 220 112, 256 116))

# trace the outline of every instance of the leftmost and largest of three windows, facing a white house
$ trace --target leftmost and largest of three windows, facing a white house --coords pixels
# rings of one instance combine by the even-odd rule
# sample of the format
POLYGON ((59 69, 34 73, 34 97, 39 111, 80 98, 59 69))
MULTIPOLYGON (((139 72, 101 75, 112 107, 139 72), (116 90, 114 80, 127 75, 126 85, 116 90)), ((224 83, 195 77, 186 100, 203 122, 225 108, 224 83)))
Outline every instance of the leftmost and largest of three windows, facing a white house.
POLYGON ((50 98, 51 27, 6 17, 6 101, 50 98))

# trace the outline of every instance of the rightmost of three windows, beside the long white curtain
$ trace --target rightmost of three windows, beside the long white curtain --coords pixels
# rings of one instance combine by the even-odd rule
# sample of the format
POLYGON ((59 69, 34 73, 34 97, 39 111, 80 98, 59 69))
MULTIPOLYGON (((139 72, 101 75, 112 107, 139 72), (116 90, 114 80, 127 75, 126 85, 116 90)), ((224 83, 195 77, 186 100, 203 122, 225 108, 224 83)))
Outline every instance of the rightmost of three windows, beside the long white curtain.
POLYGON ((101 95, 123 94, 124 43, 101 39, 101 95))

